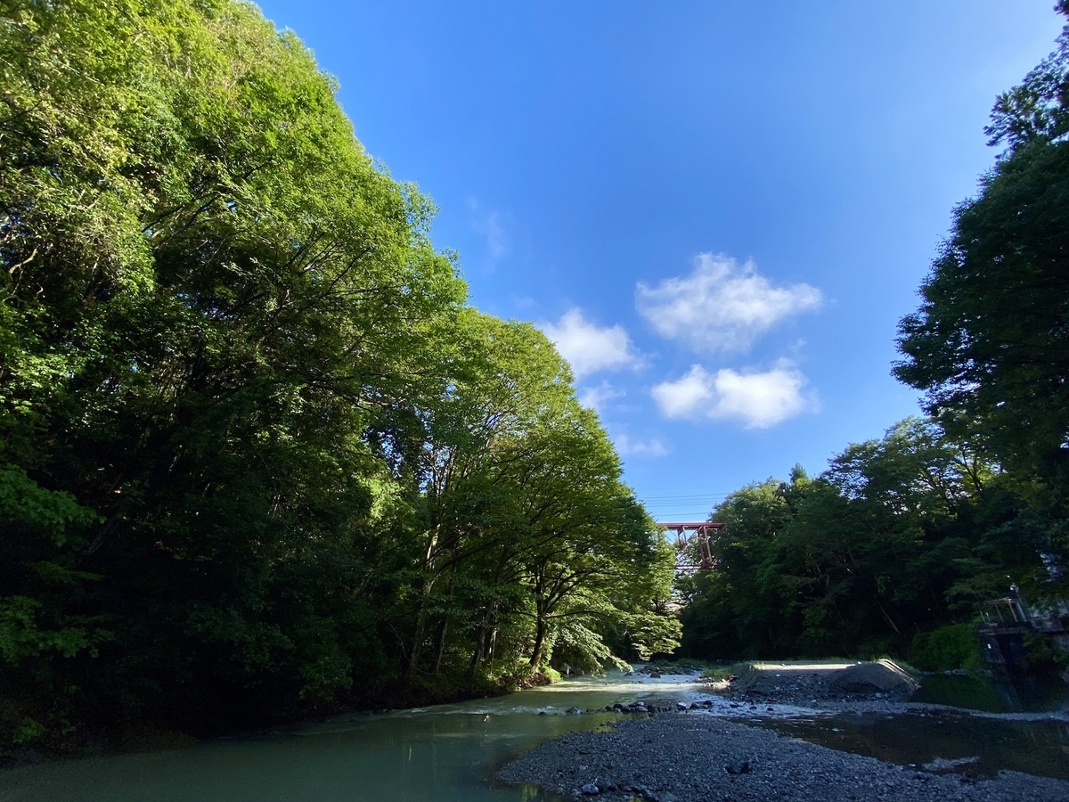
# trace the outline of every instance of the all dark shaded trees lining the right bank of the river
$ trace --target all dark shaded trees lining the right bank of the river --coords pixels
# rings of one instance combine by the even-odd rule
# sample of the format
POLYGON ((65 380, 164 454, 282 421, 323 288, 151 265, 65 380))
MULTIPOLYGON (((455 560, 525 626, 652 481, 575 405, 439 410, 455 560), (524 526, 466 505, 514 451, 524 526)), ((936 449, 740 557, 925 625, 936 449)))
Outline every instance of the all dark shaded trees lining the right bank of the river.
POLYGON ((899 328, 928 417, 717 507, 716 568, 681 587, 691 654, 963 653, 1012 584, 1069 597, 1069 28, 987 134, 1006 150, 899 328))

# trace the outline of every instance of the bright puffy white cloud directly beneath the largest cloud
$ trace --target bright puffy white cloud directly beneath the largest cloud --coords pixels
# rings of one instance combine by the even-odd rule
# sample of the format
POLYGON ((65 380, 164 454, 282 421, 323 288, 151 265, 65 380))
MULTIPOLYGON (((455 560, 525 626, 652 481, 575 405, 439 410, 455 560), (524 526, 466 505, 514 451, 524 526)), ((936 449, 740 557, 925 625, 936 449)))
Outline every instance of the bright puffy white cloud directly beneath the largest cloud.
POLYGON ((735 419, 747 429, 768 429, 816 408, 805 385, 806 377, 786 360, 764 372, 710 373, 693 365, 675 382, 655 385, 651 395, 666 418, 735 419))

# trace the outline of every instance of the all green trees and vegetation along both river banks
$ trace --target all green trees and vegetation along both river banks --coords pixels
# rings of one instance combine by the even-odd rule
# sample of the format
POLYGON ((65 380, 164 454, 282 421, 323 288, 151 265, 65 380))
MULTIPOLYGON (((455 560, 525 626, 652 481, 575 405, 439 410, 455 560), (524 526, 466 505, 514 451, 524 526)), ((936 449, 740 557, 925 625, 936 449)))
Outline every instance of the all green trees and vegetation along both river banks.
POLYGON ((335 90, 246 2, 0 0, 0 759, 494 693, 681 623, 695 658, 958 667, 983 600, 1065 595, 1069 33, 901 324, 927 417, 731 494, 675 591, 567 363, 467 305, 335 90))

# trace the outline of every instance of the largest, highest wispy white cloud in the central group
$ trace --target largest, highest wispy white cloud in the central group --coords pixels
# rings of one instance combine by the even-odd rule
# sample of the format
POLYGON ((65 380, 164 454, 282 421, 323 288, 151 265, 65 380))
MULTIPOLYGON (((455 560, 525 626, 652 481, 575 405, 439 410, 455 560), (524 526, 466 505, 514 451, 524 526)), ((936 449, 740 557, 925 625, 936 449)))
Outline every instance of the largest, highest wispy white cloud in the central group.
POLYGON ((777 321, 820 307, 809 284, 773 287, 752 261, 700 253, 690 276, 638 283, 635 305, 657 334, 696 351, 746 351, 777 321))

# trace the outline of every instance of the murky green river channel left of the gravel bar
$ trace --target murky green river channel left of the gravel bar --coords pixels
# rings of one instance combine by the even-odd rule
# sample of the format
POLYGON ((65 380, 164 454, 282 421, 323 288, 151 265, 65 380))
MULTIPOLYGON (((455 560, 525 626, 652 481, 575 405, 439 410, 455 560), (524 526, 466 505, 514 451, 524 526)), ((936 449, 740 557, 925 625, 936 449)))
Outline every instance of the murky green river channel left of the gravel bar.
POLYGON ((686 697, 696 693, 690 679, 586 677, 179 751, 27 766, 0 772, 0 802, 549 802, 558 798, 486 781, 497 766, 544 740, 621 718, 568 710, 686 697))

